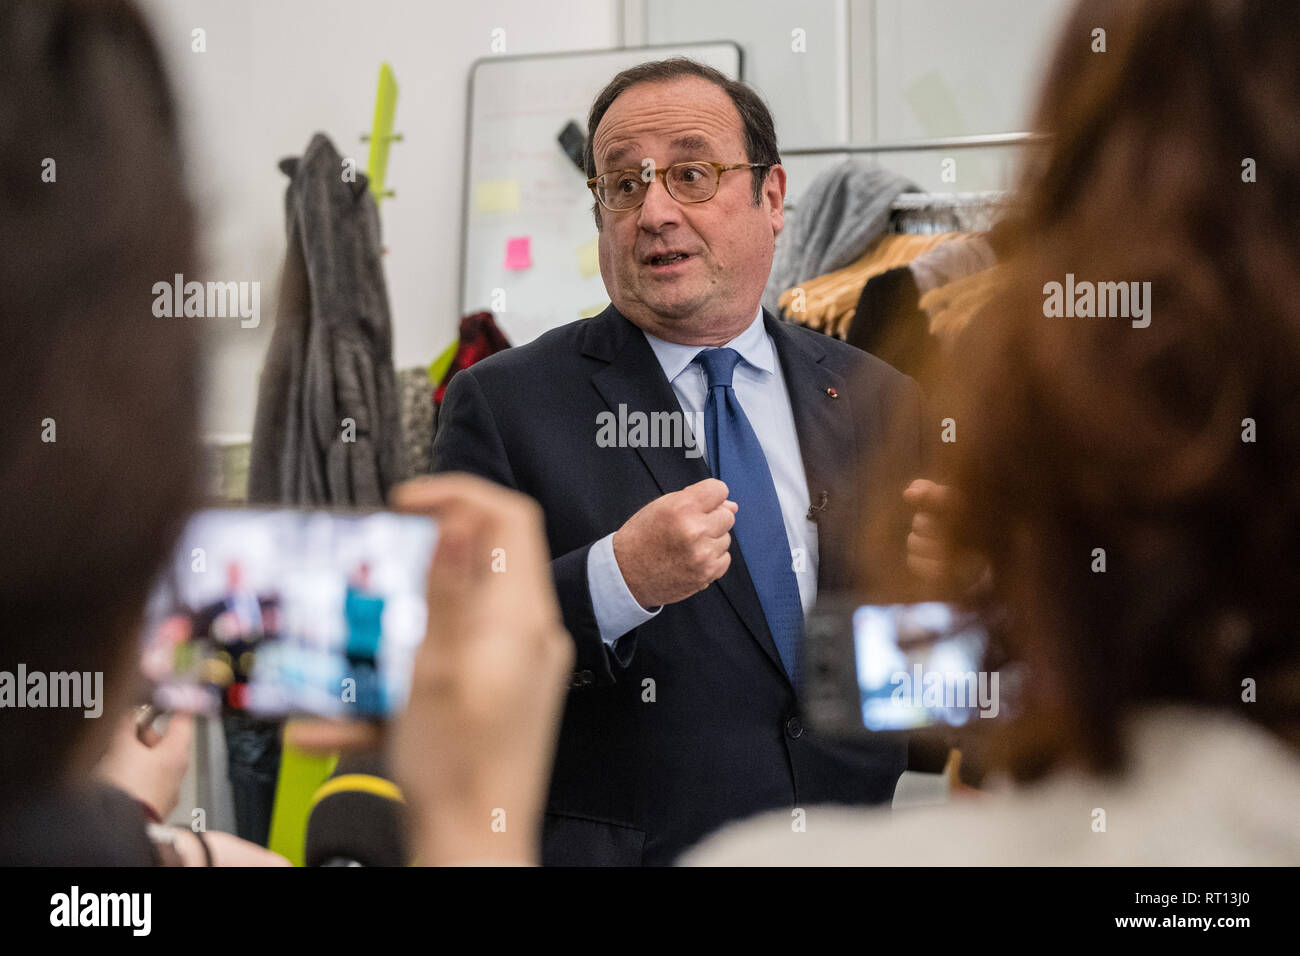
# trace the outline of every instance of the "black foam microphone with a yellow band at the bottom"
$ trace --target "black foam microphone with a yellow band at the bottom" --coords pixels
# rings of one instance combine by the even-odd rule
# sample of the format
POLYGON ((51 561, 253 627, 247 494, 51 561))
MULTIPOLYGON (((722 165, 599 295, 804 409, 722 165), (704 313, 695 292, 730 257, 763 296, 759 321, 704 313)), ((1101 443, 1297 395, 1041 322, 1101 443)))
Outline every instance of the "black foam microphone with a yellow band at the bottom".
POLYGON ((407 866, 402 791, 380 757, 352 754, 312 797, 307 818, 307 866, 407 866))

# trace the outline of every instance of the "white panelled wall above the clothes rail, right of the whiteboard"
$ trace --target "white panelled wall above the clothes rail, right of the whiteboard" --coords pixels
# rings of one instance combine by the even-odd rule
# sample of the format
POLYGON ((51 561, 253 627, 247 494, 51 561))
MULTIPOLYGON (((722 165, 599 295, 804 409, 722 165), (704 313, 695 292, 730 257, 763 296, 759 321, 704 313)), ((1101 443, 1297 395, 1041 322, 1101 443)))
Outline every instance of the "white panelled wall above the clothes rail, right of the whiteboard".
MULTIPOLYGON (((1074 0, 640 0, 651 42, 734 39, 783 150, 1024 129, 1039 73, 1074 0), (802 49, 792 49, 794 31, 802 49)), ((957 182, 933 152, 880 163, 935 191, 1010 185, 1015 151, 962 150, 957 182)), ((789 198, 842 153, 789 156, 789 198)))

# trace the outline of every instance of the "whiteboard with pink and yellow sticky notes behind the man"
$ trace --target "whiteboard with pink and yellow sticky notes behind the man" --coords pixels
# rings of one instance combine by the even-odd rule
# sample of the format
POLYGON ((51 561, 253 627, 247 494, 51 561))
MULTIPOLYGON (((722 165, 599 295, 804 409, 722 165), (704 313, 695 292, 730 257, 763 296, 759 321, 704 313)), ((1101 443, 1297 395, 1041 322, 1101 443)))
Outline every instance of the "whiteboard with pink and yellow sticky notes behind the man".
POLYGON ((460 310, 490 311, 511 345, 602 311, 592 191, 558 137, 586 135, 592 101, 616 73, 689 56, 741 78, 736 43, 489 56, 469 73, 460 310))

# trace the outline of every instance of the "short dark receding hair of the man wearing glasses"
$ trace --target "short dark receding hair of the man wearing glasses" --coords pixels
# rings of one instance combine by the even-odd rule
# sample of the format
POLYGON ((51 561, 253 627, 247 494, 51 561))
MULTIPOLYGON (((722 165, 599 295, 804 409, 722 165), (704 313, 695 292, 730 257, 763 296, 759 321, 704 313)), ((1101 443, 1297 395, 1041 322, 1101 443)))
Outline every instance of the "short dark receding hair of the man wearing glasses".
MULTIPOLYGON (((751 87, 731 79, 712 66, 706 66, 684 56, 651 60, 650 62, 629 66, 606 83, 604 88, 597 94, 595 101, 592 104, 592 112, 586 117, 586 147, 584 148, 582 157, 588 178, 594 177, 597 172, 593 147, 595 129, 601 125, 601 120, 604 118, 614 100, 629 87, 638 83, 664 83, 682 77, 707 79, 710 83, 720 87, 723 92, 731 96, 732 103, 736 104, 736 112, 740 113, 741 129, 745 133, 745 161, 763 164, 762 169, 750 170, 754 187, 754 204, 758 206, 763 199, 763 183, 767 179, 767 173, 781 161, 781 155, 776 148, 776 125, 772 122, 772 113, 768 111, 767 104, 763 103, 763 98, 751 87)), ((593 212, 595 215, 595 224, 601 225, 599 203, 593 206, 593 212)))

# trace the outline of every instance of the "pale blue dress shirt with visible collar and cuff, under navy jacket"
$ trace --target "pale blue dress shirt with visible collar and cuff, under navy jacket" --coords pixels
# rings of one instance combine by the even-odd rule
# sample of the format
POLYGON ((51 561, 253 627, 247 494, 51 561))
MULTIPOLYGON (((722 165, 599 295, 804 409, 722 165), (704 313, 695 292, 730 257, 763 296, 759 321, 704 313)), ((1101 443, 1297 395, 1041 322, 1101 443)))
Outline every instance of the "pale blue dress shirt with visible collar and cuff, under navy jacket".
MULTIPOLYGON (((705 351, 705 347, 676 345, 645 332, 642 334, 650 342, 664 376, 672 384, 681 410, 686 412, 688 427, 690 421, 702 421, 705 403, 708 401, 708 382, 703 367, 697 364, 694 358, 705 351)), ((803 458, 800 454, 800 436, 794 428, 794 412, 790 408, 790 397, 785 389, 785 376, 781 373, 776 346, 763 328, 762 307, 749 328, 723 347, 734 349, 741 356, 732 377, 732 388, 754 434, 758 436, 759 445, 763 446, 767 468, 772 472, 776 497, 781 502, 785 537, 794 559, 800 602, 807 614, 816 601, 816 523, 807 518, 811 502, 807 477, 803 473, 803 458)), ((705 447, 703 436, 699 436, 699 445, 707 462, 708 449, 705 447)), ((601 628, 601 639, 606 644, 614 645, 628 631, 640 627, 663 610, 662 607, 646 610, 632 597, 614 557, 612 533, 592 545, 586 558, 586 578, 592 589, 592 609, 601 628)))

